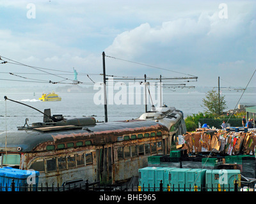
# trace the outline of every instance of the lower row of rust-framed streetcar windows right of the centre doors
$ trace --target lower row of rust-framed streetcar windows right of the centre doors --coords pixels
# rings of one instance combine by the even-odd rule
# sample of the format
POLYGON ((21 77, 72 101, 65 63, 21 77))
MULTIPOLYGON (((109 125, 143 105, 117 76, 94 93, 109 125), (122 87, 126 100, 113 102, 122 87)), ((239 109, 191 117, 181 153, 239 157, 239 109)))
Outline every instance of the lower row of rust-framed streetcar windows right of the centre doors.
POLYGON ((129 159, 131 157, 144 156, 148 154, 163 153, 162 142, 118 147, 116 150, 118 160, 129 159))

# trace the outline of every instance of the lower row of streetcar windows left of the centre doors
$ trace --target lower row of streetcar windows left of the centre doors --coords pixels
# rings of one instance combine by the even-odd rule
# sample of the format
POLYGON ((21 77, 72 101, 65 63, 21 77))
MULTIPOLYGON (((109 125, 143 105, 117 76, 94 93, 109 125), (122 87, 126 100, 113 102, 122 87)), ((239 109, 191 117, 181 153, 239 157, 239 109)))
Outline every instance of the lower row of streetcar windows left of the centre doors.
POLYGON ((36 159, 30 169, 40 172, 62 171, 87 166, 92 164, 92 152, 90 154, 72 154, 68 156, 36 159))

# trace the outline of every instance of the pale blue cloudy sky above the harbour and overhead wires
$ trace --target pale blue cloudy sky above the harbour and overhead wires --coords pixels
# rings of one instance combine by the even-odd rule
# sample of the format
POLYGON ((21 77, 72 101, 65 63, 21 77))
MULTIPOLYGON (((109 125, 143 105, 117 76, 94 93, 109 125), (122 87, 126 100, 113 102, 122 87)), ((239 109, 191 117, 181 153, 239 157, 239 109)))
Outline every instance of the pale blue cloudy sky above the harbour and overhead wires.
POLYGON ((82 85, 102 82, 102 52, 107 75, 245 87, 256 69, 255 15, 256 1, 1 0, 0 87, 67 85, 73 68, 82 85))

